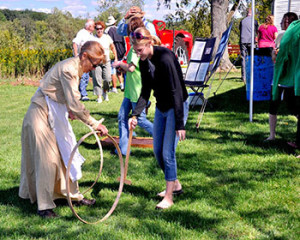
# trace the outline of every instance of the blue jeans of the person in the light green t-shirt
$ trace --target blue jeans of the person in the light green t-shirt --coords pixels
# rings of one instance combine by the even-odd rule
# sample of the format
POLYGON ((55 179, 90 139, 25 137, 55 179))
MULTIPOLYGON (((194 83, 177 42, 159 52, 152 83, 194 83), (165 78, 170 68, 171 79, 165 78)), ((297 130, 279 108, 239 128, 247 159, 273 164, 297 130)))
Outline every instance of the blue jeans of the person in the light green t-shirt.
MULTIPOLYGON (((119 134, 120 134, 120 141, 119 146, 122 152, 122 155, 126 155, 127 146, 128 146, 128 138, 129 138, 129 128, 128 128, 128 115, 130 111, 134 110, 136 106, 135 102, 131 102, 130 99, 124 98, 119 114, 118 114, 118 123, 119 123, 119 134)), ((141 128, 144 128, 151 136, 153 134, 153 123, 150 122, 146 118, 145 109, 138 117, 138 125, 141 128)))

